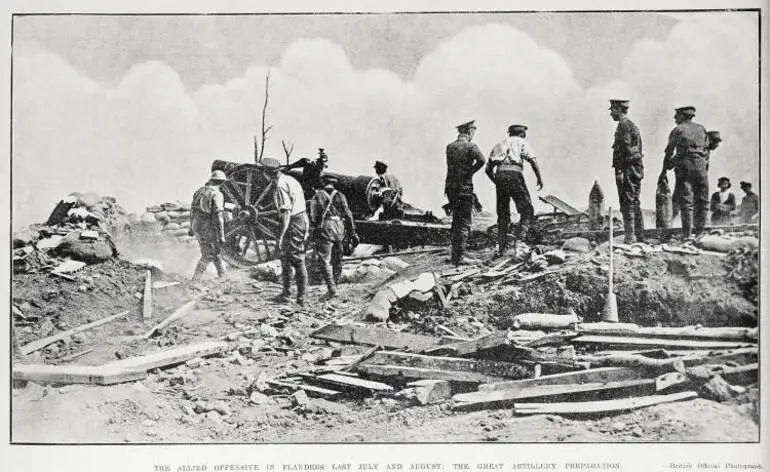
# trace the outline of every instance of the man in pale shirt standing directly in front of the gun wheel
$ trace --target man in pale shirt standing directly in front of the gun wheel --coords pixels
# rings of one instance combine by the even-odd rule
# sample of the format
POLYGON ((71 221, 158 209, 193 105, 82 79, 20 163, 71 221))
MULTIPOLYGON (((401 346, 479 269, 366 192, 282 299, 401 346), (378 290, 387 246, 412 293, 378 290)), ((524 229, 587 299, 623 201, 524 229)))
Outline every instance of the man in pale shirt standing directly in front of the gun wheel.
POLYGON ((262 159, 265 177, 275 185, 275 206, 280 213, 278 248, 281 251, 281 278, 283 292, 279 301, 289 301, 291 290, 291 269, 297 276, 297 304, 305 305, 307 268, 305 267, 305 241, 308 236, 308 221, 305 213, 305 195, 302 185, 292 176, 281 172, 278 159, 262 159))

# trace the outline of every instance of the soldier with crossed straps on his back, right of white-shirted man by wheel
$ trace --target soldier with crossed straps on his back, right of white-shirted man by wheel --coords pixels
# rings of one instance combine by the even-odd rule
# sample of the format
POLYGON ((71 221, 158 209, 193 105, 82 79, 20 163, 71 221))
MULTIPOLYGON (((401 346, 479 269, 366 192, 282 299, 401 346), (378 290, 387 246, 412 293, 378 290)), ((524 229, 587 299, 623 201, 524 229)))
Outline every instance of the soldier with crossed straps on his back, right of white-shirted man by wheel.
POLYGON ((316 252, 323 263, 323 276, 328 288, 326 298, 331 299, 337 296, 337 284, 342 273, 345 232, 350 235, 354 246, 358 244, 358 235, 347 198, 334 189, 337 179, 324 175, 323 182, 323 190, 317 190, 310 200, 310 225, 314 228, 316 252))

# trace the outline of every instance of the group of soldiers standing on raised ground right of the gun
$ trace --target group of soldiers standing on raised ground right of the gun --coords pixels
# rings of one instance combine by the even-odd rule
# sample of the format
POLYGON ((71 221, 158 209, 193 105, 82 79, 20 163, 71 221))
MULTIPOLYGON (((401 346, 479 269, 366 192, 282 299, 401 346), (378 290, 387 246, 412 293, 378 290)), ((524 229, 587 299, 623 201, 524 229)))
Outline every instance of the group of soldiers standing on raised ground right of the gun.
MULTIPOLYGON (((610 116, 618 123, 612 145, 612 167, 620 200, 626 243, 644 241, 644 219, 639 194, 644 178, 642 138, 639 128, 628 118, 628 100, 610 100, 610 116)), ((684 106, 675 109, 676 127, 668 137, 663 159, 661 178, 674 170, 676 186, 672 197, 673 207, 682 215, 682 236, 689 238, 701 233, 706 225, 709 209, 712 224, 726 224, 735 212, 735 197, 729 198, 725 191, 729 179, 719 179, 720 192, 709 202, 708 168, 711 153, 722 141, 719 131, 706 129, 693 121, 695 107, 684 106), (709 205, 710 203, 710 205, 709 205)), ((515 237, 524 238, 533 223, 534 209, 529 190, 524 181, 524 162, 528 162, 537 178, 538 190, 543 179, 532 147, 526 140, 527 127, 511 125, 508 137, 497 143, 484 158, 479 147, 472 143, 476 131, 475 121, 457 126, 458 136, 446 148, 447 176, 444 191, 452 212, 452 256, 455 265, 475 263, 467 257, 466 245, 471 227, 471 203, 475 198, 473 175, 486 162, 486 174, 494 183, 497 194, 498 255, 508 248, 510 226, 510 200, 513 199, 519 213, 519 225, 515 237)), ((751 183, 741 182, 746 196, 741 204, 740 214, 749 222, 759 211, 759 198, 751 191, 751 183)))

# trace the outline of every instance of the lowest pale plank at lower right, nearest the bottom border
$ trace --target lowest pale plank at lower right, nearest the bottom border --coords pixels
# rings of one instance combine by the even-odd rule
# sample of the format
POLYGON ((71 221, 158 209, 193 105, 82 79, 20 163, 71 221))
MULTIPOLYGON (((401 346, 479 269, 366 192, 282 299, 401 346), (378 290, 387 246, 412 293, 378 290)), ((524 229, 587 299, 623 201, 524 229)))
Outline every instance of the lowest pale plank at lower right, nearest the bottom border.
POLYGON ((517 415, 564 415, 564 414, 596 414, 613 411, 634 410, 661 403, 690 400, 698 396, 695 392, 678 392, 669 395, 650 395, 648 397, 622 398, 593 402, 565 403, 520 403, 515 404, 513 411, 517 415))

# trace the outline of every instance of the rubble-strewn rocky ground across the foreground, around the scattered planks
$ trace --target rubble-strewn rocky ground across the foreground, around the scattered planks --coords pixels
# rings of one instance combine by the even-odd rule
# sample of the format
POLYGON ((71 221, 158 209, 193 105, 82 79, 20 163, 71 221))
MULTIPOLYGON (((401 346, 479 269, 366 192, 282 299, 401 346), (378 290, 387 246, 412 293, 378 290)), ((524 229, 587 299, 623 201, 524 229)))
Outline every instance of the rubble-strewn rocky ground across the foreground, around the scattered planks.
MULTIPOLYGON (((384 277, 344 284, 339 299, 322 302, 325 288, 311 287, 309 303, 299 309, 270 299, 274 282, 233 270, 224 281, 191 286, 185 276, 194 264, 189 247, 120 247, 124 258, 163 257, 175 270, 156 280, 179 285, 154 291, 157 323, 188 300, 196 310, 148 340, 141 316, 145 269, 125 259, 89 265, 75 280, 45 272, 13 278, 17 307, 15 332, 24 345, 122 310, 125 319, 72 336, 19 362, 99 365, 182 346, 226 339, 237 351, 151 372, 148 379, 115 386, 41 386, 28 383, 13 391, 15 442, 606 442, 606 441, 754 441, 758 438, 757 392, 749 389, 727 403, 705 399, 664 404, 618 415, 570 418, 519 417, 511 410, 453 412, 447 403, 415 406, 390 396, 346 396, 334 401, 296 402, 286 394, 254 395, 255 381, 312 367, 329 351, 354 355, 366 348, 310 338, 314 329, 340 320, 362 320, 362 309, 384 277), (186 261, 186 263, 180 262, 186 261), (184 269, 187 264, 188 268, 184 269), (139 294, 137 296, 137 294, 139 294), (19 316, 20 314, 20 316, 19 316), (228 337, 229 336, 229 337, 228 337)), ((606 250, 572 257, 558 271, 527 284, 488 283, 461 290, 448 308, 438 303, 404 306, 387 323, 393 329, 445 335, 449 329, 476 337, 510 328, 512 315, 559 313, 573 309, 596 320, 606 293, 606 250)), ((491 251, 474 254, 483 260, 491 251)), ((415 273, 449 270, 445 255, 404 256, 415 273)), ((756 305, 745 280, 730 277, 731 260, 657 252, 615 258, 621 321, 640 325, 755 326, 756 305)), ((492 264, 493 262, 490 262, 492 264)), ((257 392, 258 393, 258 392, 257 392)))

